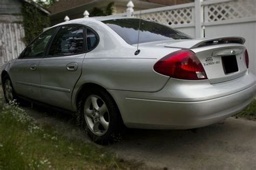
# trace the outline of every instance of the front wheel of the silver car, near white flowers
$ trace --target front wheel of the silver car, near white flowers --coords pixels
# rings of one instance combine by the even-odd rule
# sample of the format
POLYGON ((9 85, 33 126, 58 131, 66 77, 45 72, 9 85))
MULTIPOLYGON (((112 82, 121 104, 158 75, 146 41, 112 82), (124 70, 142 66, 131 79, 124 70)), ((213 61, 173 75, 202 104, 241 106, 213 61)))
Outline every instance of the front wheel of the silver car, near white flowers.
POLYGON ((4 99, 6 103, 10 103, 11 101, 18 102, 18 96, 14 91, 14 87, 12 86, 11 79, 8 75, 3 78, 3 93, 4 99))

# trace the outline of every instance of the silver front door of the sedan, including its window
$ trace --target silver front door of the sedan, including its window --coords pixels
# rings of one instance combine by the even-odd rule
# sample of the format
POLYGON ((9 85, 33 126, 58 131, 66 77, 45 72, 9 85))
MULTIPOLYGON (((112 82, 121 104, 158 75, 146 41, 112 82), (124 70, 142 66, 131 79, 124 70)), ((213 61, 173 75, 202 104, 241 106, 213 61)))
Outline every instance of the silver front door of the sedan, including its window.
POLYGON ((14 89, 19 95, 41 100, 41 79, 38 65, 55 30, 56 28, 47 30, 33 40, 12 65, 9 74, 14 89))

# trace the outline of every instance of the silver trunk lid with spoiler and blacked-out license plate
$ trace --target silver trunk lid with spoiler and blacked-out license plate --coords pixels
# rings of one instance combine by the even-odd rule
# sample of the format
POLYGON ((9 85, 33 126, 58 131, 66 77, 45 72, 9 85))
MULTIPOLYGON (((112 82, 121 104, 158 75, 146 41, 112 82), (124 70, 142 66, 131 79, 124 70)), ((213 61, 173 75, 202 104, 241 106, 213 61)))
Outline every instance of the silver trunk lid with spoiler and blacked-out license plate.
POLYGON ((242 37, 191 39, 165 44, 190 49, 200 60, 211 84, 232 80, 247 73, 242 37))

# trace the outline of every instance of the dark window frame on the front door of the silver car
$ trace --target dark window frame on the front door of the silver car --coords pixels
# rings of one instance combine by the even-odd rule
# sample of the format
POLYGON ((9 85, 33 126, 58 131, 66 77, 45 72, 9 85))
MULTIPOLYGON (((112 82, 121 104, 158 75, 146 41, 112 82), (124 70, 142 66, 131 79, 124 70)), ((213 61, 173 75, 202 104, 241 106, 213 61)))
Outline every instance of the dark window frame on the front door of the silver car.
POLYGON ((48 29, 48 30, 45 30, 45 31, 43 31, 42 33, 40 33, 35 39, 32 40, 31 43, 29 43, 29 44, 25 47, 25 49, 21 52, 21 54, 18 56, 17 59, 37 59, 37 58, 44 58, 44 57, 45 57, 45 52, 46 52, 47 49, 48 49, 48 45, 49 45, 49 43, 51 42, 53 36, 55 36, 56 31, 58 30, 58 28, 57 28, 57 29, 56 29, 56 28, 57 28, 57 26, 52 27, 52 28, 50 28, 50 29, 48 29), (55 29, 55 31, 52 33, 51 38, 49 39, 48 43, 47 43, 46 46, 45 46, 43 56, 42 56, 42 57, 23 57, 24 54, 25 54, 25 52, 26 52, 26 50, 28 49, 28 47, 29 47, 32 43, 34 43, 35 40, 38 39, 43 33, 45 33, 46 31, 49 31, 49 30, 51 30, 51 29, 55 29))

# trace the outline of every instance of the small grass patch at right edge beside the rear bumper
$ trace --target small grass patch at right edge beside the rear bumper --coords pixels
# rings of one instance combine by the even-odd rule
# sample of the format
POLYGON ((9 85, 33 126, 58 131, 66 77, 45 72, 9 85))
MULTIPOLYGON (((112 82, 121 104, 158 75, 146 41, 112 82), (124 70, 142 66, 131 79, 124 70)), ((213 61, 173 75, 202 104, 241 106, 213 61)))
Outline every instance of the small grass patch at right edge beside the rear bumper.
POLYGON ((242 117, 250 120, 256 120, 256 98, 248 105, 243 111, 235 115, 236 117, 242 117))

